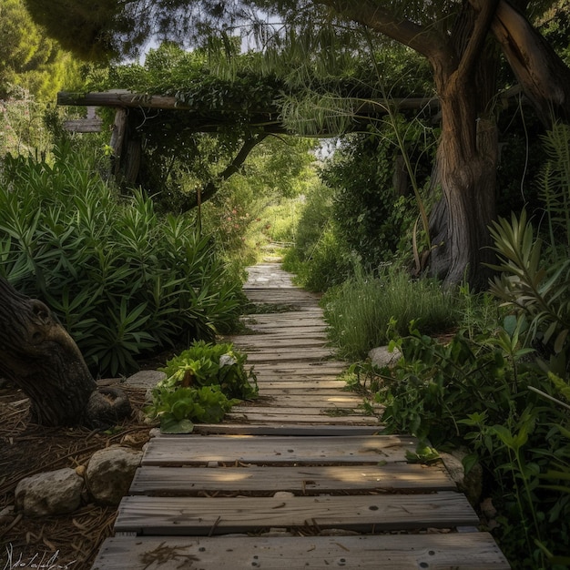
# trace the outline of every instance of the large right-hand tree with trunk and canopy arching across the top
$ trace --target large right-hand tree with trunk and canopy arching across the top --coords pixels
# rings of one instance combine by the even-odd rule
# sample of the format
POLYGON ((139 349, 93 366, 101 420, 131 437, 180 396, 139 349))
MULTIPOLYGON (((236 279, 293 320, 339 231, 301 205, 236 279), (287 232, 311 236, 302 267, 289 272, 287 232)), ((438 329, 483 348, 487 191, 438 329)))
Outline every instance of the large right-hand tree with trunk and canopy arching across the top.
MULTIPOLYGON (((42 12, 34 6, 36 0, 27 1, 37 17, 46 19, 45 8, 42 12)), ((116 55, 119 47, 130 53, 153 35, 206 46, 208 38, 216 37, 214 29, 226 38, 230 54, 236 44, 229 36, 247 29, 267 65, 288 68, 283 75, 288 86, 310 84, 311 67, 335 76, 351 54, 364 52, 372 43, 396 42, 422 56, 431 67, 442 124, 432 177, 434 188, 443 194, 430 222, 432 270, 451 283, 467 278, 483 286, 487 281, 482 263, 491 260, 488 226, 494 219, 497 95, 504 87, 497 78, 502 62, 508 62, 513 83, 518 81, 545 125, 553 114, 570 117, 570 70, 534 25, 538 16, 555 8, 554 0, 108 1, 100 4, 107 13, 97 17, 88 15, 78 0, 54 4, 65 5, 68 12, 50 27, 54 34, 64 34, 56 27, 66 28, 61 25, 65 18, 87 18, 91 45, 107 46, 116 55)), ((50 7, 52 13, 57 9, 50 7)), ((382 84, 382 69, 374 58, 369 70, 382 84)), ((304 120, 307 110, 314 117, 315 109, 319 114, 329 102, 320 99, 318 91, 315 97, 309 87, 310 97, 292 101, 298 128, 309 124, 304 120)), ((335 109, 342 98, 337 91, 335 109)), ((346 100, 352 103, 353 98, 346 100)), ((284 114, 295 116, 290 109, 284 114)), ((349 114, 333 113, 335 119, 349 114)))

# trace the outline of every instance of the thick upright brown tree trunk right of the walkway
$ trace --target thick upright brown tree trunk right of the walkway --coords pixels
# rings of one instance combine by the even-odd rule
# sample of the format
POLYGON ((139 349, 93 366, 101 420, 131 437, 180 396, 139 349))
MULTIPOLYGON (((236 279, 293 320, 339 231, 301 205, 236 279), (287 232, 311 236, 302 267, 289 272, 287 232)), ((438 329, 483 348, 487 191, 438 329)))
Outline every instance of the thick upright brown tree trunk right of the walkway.
MULTIPOLYGON (((496 2, 494 3, 496 4, 496 2)), ((495 216, 497 128, 489 107, 495 93, 496 55, 485 46, 494 6, 476 13, 463 5, 449 58, 433 63, 442 108, 442 137, 432 180, 443 198, 431 217, 431 271, 446 284, 488 285, 493 261, 489 226, 495 216)))

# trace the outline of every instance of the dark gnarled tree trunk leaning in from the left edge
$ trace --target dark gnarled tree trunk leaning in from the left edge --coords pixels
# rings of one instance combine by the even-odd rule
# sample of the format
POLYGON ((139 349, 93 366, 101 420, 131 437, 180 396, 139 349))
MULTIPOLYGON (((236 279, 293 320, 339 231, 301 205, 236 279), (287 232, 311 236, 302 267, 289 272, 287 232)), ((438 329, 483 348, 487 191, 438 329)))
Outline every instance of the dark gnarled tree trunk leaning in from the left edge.
POLYGON ((31 420, 40 425, 105 427, 130 412, 124 394, 106 398, 97 390, 76 343, 46 305, 1 277, 0 375, 25 392, 31 420))

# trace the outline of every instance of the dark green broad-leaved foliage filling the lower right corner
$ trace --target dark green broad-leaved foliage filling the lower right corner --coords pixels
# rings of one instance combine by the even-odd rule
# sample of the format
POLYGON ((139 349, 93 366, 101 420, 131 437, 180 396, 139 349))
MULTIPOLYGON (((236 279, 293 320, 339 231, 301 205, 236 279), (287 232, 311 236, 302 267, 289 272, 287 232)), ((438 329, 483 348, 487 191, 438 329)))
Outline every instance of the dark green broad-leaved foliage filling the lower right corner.
POLYGON ((394 341, 402 359, 377 371, 375 382, 388 431, 413 433, 439 449, 464 446, 466 470, 483 465, 500 510, 500 545, 517 568, 531 569, 545 567, 549 549, 570 547, 570 501, 544 484, 553 463, 569 468, 570 448, 565 428, 557 427, 567 422, 564 413, 537 393, 552 392, 552 385, 532 365, 533 351, 522 342, 525 326, 510 316, 474 342, 457 334, 441 343, 412 331, 394 341))

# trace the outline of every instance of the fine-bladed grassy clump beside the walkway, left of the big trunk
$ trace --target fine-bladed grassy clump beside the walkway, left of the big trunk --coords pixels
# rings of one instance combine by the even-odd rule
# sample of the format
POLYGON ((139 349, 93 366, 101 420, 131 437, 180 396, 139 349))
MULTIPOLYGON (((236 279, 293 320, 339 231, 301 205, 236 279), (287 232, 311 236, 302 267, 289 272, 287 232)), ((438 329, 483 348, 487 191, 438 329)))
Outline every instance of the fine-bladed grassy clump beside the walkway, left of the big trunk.
POLYGON ((388 331, 405 335, 411 321, 425 334, 450 331, 460 320, 460 302, 435 280, 412 280, 405 270, 383 270, 354 277, 322 300, 329 337, 342 357, 364 359, 386 344, 388 331), (391 324, 392 323, 392 324, 391 324))

